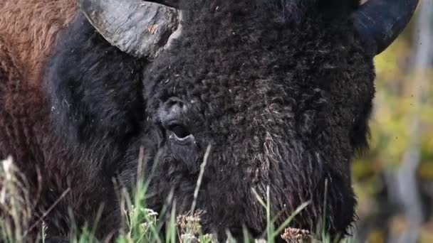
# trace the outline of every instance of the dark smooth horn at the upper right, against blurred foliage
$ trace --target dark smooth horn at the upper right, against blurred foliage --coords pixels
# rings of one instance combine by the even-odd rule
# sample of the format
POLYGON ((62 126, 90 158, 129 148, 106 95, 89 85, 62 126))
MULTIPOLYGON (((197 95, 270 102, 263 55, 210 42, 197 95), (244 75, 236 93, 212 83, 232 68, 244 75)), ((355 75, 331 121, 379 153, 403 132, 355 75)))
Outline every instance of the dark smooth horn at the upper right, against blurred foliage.
POLYGON ((353 13, 367 51, 382 53, 409 23, 419 0, 369 0, 353 13))

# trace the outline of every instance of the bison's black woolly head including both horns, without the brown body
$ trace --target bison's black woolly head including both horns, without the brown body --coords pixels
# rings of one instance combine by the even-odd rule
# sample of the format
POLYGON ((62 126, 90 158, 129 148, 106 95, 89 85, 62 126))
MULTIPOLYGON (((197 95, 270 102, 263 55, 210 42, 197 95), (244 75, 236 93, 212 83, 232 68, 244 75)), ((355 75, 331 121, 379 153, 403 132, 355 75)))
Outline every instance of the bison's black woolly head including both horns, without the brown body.
MULTIPOLYGON (((257 195, 277 223, 311 202, 296 227, 328 215, 332 234, 346 232, 355 207, 349 162, 367 144, 375 92, 372 58, 417 0, 155 2, 81 1, 111 45, 152 60, 140 70, 142 130, 131 145, 150 158, 148 205, 160 210, 169 198, 188 212, 194 202, 205 231, 224 237, 264 232, 257 195)), ((125 184, 131 161, 120 169, 125 184)))

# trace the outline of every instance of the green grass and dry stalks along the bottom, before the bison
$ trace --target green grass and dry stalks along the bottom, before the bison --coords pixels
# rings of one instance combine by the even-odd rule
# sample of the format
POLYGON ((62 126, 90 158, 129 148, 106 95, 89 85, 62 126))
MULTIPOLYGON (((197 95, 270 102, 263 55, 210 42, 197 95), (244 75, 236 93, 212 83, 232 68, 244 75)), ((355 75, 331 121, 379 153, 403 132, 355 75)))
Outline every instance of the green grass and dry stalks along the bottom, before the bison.
MULTIPOLYGON (((204 157, 202 166, 200 167, 199 179, 197 180, 197 188, 194 190, 194 199, 197 199, 199 187, 202 182, 202 176, 206 168, 207 156, 209 156, 210 147, 207 148, 207 153, 204 157)), ((142 151, 139 158, 138 171, 142 171, 142 151)), ((157 212, 154 212, 145 207, 145 192, 148 183, 140 183, 142 180, 139 174, 138 182, 135 187, 135 196, 127 193, 127 190, 122 191, 122 208, 125 220, 125 229, 120 232, 120 235, 115 242, 117 243, 135 243, 135 242, 181 242, 181 243, 212 243, 216 239, 211 234, 203 234, 200 222, 202 221, 202 212, 196 210, 195 200, 192 204, 191 212, 187 215, 176 214, 176 205, 172 205, 170 212, 167 212, 168 207, 165 207, 161 214, 169 214, 169 220, 165 226, 165 232, 162 232, 162 220, 159 219, 157 212)), ((30 225, 31 220, 31 198, 25 190, 27 187, 25 177, 19 173, 14 166, 11 158, 5 161, 0 161, 0 212, 4 215, 0 217, 0 240, 1 242, 24 242, 26 234, 33 227, 41 227, 38 229, 39 239, 45 242, 46 225, 43 222, 43 215, 37 224, 30 225), (17 227, 18 226, 18 227, 17 227)), ((302 229, 294 229, 290 227, 293 218, 301 212, 309 202, 305 202, 298 207, 291 217, 275 227, 276 217, 273 217, 271 207, 269 205, 269 188, 266 190, 266 198, 261 198, 256 191, 253 190, 256 199, 262 207, 266 209, 266 235, 264 239, 251 239, 248 232, 244 229, 244 243, 248 242, 267 242, 273 243, 278 237, 283 237, 286 242, 318 242, 313 235, 302 229)), ((49 211, 49 210, 48 210, 49 211)), ((48 212, 47 211, 47 212, 48 212)), ((324 215, 325 217, 325 215, 324 215)), ((97 224, 98 219, 95 222, 97 224)), ((93 235, 93 227, 83 227, 78 229, 72 227, 71 242, 87 243, 98 242, 93 235)), ((320 238, 320 242, 330 242, 326 232, 315 234, 320 238)), ((228 232, 227 242, 235 242, 228 232)), ((344 242, 350 242, 346 239, 344 242)))

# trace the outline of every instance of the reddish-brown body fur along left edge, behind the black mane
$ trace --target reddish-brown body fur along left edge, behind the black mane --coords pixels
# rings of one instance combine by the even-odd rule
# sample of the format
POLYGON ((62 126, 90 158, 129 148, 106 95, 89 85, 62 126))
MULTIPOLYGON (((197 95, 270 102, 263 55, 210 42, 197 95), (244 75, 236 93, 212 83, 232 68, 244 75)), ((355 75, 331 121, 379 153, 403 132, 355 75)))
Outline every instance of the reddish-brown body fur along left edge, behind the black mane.
MULTIPOLYGON (((88 157, 83 153, 79 158, 71 157, 71 150, 78 152, 74 154, 80 151, 68 148, 54 135, 48 119, 49 107, 43 98, 43 66, 58 32, 77 13, 76 3, 75 0, 0 2, 0 159, 12 156, 32 186, 27 189, 32 200, 28 206, 33 212, 31 218, 23 218, 20 226, 24 231, 34 226, 25 237, 30 242, 42 222, 48 226, 48 235, 67 235, 72 225, 68 217, 70 204, 78 225, 89 215, 96 219, 98 208, 89 205, 102 202, 103 198, 98 197, 103 194, 104 197, 113 194, 105 192, 110 182, 93 181, 100 178, 98 164, 86 163, 88 157), (66 195, 59 198, 63 192, 66 195), (52 205, 56 206, 56 212, 44 215, 52 205), (56 220, 48 222, 51 216, 56 220)), ((101 217, 108 220, 102 222, 100 229, 110 232, 119 226, 118 206, 116 202, 104 206, 101 217), (115 218, 110 220, 111 217, 115 218)), ((0 214, 5 216, 8 212, 0 214)))

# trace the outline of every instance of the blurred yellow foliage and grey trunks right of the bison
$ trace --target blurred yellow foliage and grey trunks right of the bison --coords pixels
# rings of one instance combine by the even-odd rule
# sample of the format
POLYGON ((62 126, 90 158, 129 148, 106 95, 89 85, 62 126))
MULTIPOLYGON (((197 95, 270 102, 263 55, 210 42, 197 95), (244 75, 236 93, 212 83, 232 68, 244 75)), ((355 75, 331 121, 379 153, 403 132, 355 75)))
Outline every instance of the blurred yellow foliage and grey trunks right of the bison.
POLYGON ((433 0, 375 65, 370 151, 353 164, 355 242, 433 242, 433 0))

